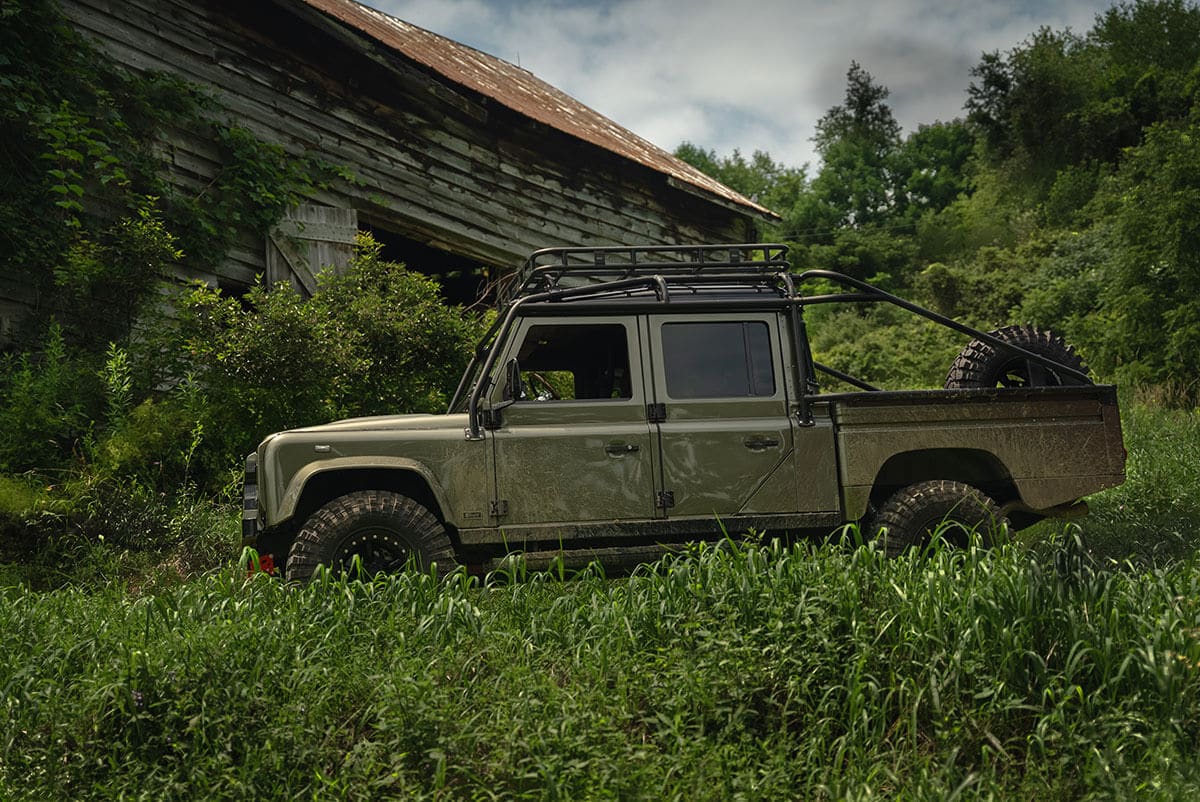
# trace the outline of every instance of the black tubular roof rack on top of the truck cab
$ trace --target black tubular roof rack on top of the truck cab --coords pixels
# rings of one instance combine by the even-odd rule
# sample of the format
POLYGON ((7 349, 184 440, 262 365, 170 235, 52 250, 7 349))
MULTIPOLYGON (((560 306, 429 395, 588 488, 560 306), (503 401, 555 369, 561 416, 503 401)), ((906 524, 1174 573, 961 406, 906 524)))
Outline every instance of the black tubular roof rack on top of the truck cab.
POLYGON ((730 280, 790 273, 787 246, 773 243, 736 245, 650 245, 616 247, 546 247, 526 261, 499 291, 500 305, 553 289, 568 289, 625 279, 730 280))

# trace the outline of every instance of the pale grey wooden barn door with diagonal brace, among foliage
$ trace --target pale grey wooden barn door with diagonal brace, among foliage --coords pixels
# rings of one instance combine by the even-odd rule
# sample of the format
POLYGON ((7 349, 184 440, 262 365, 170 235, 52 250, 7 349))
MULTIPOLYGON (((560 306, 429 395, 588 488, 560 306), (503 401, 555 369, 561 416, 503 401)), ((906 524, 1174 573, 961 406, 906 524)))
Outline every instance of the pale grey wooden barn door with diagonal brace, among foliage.
POLYGON ((288 210, 268 235, 266 286, 286 281, 311 297, 323 269, 346 270, 358 231, 354 209, 300 204, 288 210))

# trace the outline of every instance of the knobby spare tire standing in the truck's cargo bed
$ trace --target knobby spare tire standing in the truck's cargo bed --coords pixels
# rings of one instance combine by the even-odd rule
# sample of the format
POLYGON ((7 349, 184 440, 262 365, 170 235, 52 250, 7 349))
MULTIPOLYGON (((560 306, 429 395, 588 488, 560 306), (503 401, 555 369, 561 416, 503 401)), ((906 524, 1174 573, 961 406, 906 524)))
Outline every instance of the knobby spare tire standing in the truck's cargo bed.
MULTIPOLYGON (((1052 331, 1032 325, 1006 325, 990 333, 1006 345, 1045 357, 1062 367, 1087 375, 1075 349, 1052 331)), ((1058 387, 1091 384, 1051 365, 1043 365, 1009 348, 998 348, 983 340, 972 340, 954 359, 946 377, 946 389, 996 387, 1058 387)))

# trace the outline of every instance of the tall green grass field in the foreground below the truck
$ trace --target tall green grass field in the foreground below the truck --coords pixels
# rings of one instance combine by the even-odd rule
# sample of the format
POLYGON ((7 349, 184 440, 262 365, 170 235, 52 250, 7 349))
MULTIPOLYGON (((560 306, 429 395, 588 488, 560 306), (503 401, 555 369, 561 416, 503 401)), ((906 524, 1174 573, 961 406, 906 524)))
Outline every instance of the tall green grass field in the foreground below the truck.
POLYGON ((1196 798, 1200 424, 1126 436, 986 553, 10 587, 0 798, 1196 798))

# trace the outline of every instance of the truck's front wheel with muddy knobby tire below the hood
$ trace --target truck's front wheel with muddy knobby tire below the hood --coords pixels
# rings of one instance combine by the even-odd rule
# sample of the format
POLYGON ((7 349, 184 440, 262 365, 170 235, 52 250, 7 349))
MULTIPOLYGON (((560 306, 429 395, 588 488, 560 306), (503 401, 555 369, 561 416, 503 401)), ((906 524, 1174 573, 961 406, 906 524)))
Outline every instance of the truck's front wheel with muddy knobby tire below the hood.
POLYGON ((445 527, 407 496, 362 490, 329 502, 305 522, 288 555, 288 581, 307 582, 317 565, 350 571, 355 559, 368 576, 407 567, 439 573, 455 567, 445 527))

